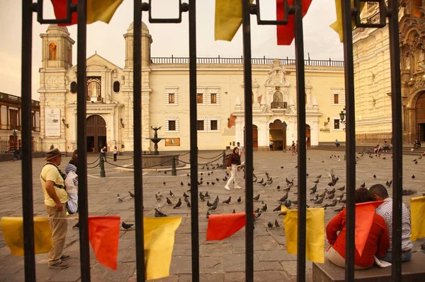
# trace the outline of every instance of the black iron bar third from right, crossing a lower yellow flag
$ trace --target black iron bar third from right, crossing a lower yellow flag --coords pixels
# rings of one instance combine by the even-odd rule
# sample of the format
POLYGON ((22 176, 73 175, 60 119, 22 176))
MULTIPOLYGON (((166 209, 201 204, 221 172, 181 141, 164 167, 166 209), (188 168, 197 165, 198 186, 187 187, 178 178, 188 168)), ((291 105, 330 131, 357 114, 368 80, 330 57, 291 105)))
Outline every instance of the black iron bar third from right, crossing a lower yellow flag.
POLYGON ((301 0, 295 0, 295 67, 297 79, 297 126, 298 126, 298 241, 297 281, 305 281, 305 239, 306 239, 306 194, 307 194, 307 148, 305 134, 305 61, 302 32, 301 0))

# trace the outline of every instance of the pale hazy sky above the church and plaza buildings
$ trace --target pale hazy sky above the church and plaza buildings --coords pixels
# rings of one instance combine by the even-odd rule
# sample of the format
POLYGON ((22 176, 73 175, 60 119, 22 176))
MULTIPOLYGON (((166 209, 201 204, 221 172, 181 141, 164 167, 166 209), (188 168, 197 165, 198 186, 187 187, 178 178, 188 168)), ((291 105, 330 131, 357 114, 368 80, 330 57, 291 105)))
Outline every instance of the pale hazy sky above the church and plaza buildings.
MULTIPOLYGON (((143 0, 147 1, 147 0, 143 0)), ((183 0, 184 1, 184 0, 183 0)), ((178 12, 178 0, 152 1, 153 18, 174 18, 178 12)), ((54 18, 50 1, 44 1, 45 18, 54 18)), ((198 57, 241 57, 242 29, 232 42, 214 40, 215 0, 198 0, 197 18, 197 52, 198 57)), ((276 19, 276 0, 261 0, 261 18, 276 19)), ((21 95, 21 1, 0 0, 0 92, 21 95)), ((115 12, 111 22, 93 23, 87 27, 87 57, 97 52, 120 67, 124 66, 125 40, 123 34, 132 22, 133 1, 124 0, 115 12)), ((152 35, 152 57, 188 57, 188 13, 183 13, 179 24, 149 23, 148 13, 142 18, 152 35)), ((305 57, 311 59, 342 60, 344 57, 342 43, 338 35, 329 28, 336 20, 334 0, 312 1, 304 17, 305 57)), ((37 22, 33 14, 33 99, 38 100, 38 69, 41 67, 40 33, 45 33, 48 25, 37 22)), ((68 27, 71 37, 77 41, 77 25, 68 27)), ((257 25, 256 17, 251 16, 251 52, 252 57, 295 58, 295 43, 290 46, 278 46, 276 43, 276 26, 257 25)), ((77 42, 73 48, 73 64, 77 63, 77 42)))

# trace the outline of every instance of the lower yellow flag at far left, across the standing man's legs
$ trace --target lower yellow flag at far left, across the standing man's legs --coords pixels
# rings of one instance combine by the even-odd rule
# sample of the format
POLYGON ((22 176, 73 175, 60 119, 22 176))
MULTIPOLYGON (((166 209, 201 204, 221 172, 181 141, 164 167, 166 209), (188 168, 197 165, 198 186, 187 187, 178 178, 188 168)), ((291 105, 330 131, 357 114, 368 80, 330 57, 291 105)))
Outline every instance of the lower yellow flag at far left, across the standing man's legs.
MULTIPOLYGON (((1 232, 13 256, 23 256, 23 218, 1 218, 1 232)), ((48 218, 34 218, 35 254, 44 254, 53 247, 48 218)))

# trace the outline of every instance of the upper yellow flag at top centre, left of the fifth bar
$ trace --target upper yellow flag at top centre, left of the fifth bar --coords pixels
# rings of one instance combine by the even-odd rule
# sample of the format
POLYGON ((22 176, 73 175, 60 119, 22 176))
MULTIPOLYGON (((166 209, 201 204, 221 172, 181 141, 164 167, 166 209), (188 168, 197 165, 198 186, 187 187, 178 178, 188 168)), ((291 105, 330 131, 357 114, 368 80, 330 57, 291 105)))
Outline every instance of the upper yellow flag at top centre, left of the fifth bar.
POLYGON ((241 25, 242 0, 215 0, 215 40, 232 41, 241 25))

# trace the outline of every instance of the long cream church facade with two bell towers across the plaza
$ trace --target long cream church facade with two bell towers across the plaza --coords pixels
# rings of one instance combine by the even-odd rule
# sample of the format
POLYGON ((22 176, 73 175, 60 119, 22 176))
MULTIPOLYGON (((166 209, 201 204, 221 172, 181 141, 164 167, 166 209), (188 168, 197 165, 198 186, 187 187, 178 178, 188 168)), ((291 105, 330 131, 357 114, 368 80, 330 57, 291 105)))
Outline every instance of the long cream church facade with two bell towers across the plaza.
MULTIPOLYGON (((50 25, 42 39, 40 69, 40 144, 62 151, 77 148, 77 68, 74 40, 67 28, 50 25)), ((87 59, 87 148, 98 152, 133 151, 133 24, 124 34, 125 62, 120 67, 94 54, 87 59)), ((188 58, 152 58, 152 35, 142 23, 142 149, 153 149, 151 127, 162 127, 159 151, 190 148, 188 58)), ((297 141, 295 61, 253 59, 254 149, 276 150, 297 141)), ((307 146, 345 140, 339 113, 344 109, 342 61, 306 60, 307 146)), ((244 144, 242 59, 198 58, 198 147, 232 148, 244 144)))

